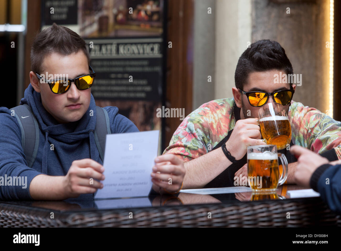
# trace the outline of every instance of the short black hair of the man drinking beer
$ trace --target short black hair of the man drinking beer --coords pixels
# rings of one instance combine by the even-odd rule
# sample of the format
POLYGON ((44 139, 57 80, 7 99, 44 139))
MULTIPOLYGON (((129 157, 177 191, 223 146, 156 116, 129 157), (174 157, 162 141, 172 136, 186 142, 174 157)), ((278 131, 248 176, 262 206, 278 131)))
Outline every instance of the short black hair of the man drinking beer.
POLYGON ((236 87, 242 89, 252 72, 274 69, 293 74, 291 62, 278 42, 258 40, 252 43, 238 59, 235 71, 236 87))

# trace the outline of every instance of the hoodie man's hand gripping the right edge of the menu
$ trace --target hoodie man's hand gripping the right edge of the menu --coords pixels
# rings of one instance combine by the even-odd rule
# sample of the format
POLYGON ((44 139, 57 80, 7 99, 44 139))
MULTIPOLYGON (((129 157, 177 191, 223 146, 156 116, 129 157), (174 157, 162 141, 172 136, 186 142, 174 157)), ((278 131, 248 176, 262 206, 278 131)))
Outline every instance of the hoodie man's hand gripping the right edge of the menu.
POLYGON ((158 192, 155 186, 162 187, 171 193, 178 191, 186 173, 181 159, 174 154, 167 153, 156 157, 154 161, 155 166, 151 173, 154 191, 158 192))

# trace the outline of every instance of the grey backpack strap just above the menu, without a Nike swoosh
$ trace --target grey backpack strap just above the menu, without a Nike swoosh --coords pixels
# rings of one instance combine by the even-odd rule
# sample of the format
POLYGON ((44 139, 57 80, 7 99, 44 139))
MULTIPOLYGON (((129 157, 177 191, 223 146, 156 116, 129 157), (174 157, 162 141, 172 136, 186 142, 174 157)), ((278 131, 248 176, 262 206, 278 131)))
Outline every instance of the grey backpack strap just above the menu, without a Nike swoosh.
POLYGON ((106 135, 111 134, 108 112, 99 106, 96 106, 96 127, 94 131, 95 143, 102 159, 104 161, 106 135))

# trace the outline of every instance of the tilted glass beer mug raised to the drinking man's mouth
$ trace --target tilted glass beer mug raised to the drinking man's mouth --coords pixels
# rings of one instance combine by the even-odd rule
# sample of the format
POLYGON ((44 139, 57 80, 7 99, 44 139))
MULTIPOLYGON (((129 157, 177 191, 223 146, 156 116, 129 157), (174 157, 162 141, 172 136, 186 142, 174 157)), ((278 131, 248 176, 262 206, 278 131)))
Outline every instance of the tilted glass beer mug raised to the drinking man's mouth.
POLYGON ((265 142, 282 150, 290 145, 291 126, 284 107, 279 103, 267 103, 258 111, 258 125, 265 142))

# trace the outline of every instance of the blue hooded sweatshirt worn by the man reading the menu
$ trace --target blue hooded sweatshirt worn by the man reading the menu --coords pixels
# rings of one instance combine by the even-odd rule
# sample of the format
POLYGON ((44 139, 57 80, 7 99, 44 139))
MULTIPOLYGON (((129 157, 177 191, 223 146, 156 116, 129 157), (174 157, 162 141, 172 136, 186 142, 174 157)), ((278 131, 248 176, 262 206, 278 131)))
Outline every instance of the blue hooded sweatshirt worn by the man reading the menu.
MULTIPOLYGON (((31 180, 39 175, 65 176, 74 160, 91 158, 103 165, 97 150, 93 131, 96 125, 96 105, 91 94, 90 105, 84 116, 75 122, 60 124, 43 107, 40 93, 30 84, 20 104, 28 104, 39 124, 39 148, 32 168, 28 167, 21 147, 21 130, 11 111, 0 107, 0 182, 1 177, 27 177, 26 187, 0 185, 0 200, 31 200, 31 180), (90 110, 93 116, 89 116, 90 110), (51 144, 54 144, 52 150, 51 144)), ((118 114, 118 108, 107 106, 110 129, 113 134, 138 131, 127 117, 118 114)), ((6 181, 5 181, 6 182, 6 181)), ((1 183, 0 183, 1 184, 1 183)), ((81 195, 93 197, 93 194, 81 195)))

